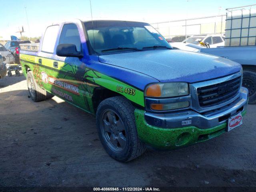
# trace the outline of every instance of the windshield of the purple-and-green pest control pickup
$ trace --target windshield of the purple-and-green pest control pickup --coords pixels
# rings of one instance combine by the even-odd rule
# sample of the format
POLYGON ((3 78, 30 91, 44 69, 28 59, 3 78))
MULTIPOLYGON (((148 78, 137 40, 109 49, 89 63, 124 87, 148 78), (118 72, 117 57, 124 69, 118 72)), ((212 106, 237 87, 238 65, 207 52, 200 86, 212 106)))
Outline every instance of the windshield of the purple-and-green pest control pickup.
POLYGON ((152 26, 141 22, 84 22, 91 54, 113 54, 172 48, 152 26))

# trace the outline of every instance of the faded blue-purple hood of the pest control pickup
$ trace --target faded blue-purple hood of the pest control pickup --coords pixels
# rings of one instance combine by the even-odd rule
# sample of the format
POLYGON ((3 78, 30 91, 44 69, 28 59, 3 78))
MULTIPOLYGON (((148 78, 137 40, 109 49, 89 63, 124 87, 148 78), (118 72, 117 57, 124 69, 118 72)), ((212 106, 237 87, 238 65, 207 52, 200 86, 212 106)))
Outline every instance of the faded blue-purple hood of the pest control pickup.
POLYGON ((134 70, 160 82, 198 82, 226 76, 241 69, 230 60, 183 50, 150 50, 99 56, 106 64, 134 70))

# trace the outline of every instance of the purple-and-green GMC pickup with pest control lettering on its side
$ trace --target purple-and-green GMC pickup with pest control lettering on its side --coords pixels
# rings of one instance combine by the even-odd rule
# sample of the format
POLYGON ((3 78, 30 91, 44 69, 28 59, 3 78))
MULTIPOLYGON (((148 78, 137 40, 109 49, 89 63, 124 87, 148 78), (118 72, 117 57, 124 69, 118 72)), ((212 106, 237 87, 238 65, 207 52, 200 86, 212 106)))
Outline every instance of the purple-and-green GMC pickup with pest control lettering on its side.
POLYGON ((146 147, 209 140, 246 113, 240 64, 173 49, 144 22, 54 23, 38 51, 21 50, 20 62, 32 100, 55 95, 95 114, 103 147, 120 162, 146 147))

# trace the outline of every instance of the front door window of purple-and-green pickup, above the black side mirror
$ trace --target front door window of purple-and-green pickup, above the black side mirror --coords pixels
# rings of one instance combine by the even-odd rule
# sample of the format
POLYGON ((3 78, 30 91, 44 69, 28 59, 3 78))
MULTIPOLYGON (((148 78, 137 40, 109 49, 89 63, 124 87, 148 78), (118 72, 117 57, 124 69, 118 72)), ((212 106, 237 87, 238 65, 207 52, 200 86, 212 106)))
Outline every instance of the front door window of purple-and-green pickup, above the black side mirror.
POLYGON ((59 44, 74 44, 76 45, 76 50, 82 50, 82 44, 80 40, 80 35, 78 32, 78 28, 75 24, 65 24, 62 28, 62 32, 60 34, 59 44))

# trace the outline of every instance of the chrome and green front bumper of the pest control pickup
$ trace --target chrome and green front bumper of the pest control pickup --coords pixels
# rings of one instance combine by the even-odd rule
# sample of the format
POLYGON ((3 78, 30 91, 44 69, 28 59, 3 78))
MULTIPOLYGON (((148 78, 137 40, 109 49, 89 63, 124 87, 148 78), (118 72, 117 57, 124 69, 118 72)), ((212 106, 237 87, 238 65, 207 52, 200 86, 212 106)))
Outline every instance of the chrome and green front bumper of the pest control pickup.
POLYGON ((246 114, 248 90, 241 88, 240 96, 228 106, 198 113, 194 110, 157 114, 135 110, 138 137, 154 148, 172 149, 206 141, 224 133, 230 116, 246 114), (182 125, 182 121, 191 124, 182 125))

